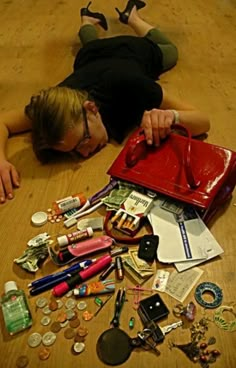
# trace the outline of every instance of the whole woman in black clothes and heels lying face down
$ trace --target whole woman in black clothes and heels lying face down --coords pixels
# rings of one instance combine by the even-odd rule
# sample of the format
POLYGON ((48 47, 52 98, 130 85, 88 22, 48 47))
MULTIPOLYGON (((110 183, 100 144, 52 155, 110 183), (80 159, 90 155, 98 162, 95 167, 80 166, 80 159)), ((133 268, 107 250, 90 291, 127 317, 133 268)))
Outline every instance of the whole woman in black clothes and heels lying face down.
POLYGON ((176 46, 145 22, 141 0, 129 0, 119 20, 137 36, 100 39, 97 26, 107 30, 103 14, 82 8, 79 37, 82 48, 74 72, 56 87, 40 91, 20 111, 0 115, 0 203, 13 198, 20 176, 5 154, 14 133, 32 130, 33 149, 42 162, 57 151, 97 152, 109 138, 119 143, 134 127, 144 129, 147 144, 159 145, 181 121, 193 136, 209 130, 208 117, 169 95, 156 80, 178 58, 176 46))

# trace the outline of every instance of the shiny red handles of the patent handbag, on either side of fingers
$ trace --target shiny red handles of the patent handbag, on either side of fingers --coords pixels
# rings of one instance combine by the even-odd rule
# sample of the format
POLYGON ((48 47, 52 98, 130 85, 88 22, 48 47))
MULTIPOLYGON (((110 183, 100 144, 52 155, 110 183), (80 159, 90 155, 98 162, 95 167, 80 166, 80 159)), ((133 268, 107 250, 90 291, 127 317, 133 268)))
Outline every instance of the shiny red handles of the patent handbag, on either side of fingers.
MULTIPOLYGON (((188 128, 184 127, 181 124, 174 124, 172 125, 172 128, 182 130, 187 135, 187 144, 186 149, 184 151, 183 156, 183 165, 184 165, 184 171, 185 176, 188 185, 191 189, 196 189, 200 185, 200 181, 196 181, 194 178, 193 172, 192 172, 192 165, 191 165, 191 150, 192 150, 192 144, 191 144, 191 133, 188 128)), ((144 157, 147 151, 147 143, 146 143, 146 137, 144 135, 144 131, 142 128, 140 128, 137 131, 137 135, 135 137, 131 137, 129 141, 129 148, 126 152, 125 156, 125 163, 127 167, 133 167, 136 165, 136 163, 144 157)))

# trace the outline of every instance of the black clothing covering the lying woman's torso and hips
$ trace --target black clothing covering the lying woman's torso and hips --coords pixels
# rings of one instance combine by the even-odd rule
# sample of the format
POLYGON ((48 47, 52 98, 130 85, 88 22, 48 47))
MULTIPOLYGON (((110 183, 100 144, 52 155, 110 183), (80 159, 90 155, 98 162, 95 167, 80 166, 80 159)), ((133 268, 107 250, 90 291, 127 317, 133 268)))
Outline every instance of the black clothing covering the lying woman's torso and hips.
POLYGON ((162 53, 145 37, 97 39, 79 50, 74 71, 59 86, 86 90, 99 106, 109 137, 119 143, 139 125, 143 112, 158 108, 162 53))

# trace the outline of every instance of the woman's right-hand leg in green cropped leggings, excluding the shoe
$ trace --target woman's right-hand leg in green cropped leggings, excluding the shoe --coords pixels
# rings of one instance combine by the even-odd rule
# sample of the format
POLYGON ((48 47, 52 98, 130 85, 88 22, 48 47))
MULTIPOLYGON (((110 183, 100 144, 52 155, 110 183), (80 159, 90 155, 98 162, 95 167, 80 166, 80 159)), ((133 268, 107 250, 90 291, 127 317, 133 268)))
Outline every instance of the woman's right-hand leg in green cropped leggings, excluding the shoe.
POLYGON ((130 13, 128 24, 138 36, 146 37, 159 46, 163 55, 163 71, 172 68, 177 63, 177 47, 161 31, 141 19, 136 7, 130 13))

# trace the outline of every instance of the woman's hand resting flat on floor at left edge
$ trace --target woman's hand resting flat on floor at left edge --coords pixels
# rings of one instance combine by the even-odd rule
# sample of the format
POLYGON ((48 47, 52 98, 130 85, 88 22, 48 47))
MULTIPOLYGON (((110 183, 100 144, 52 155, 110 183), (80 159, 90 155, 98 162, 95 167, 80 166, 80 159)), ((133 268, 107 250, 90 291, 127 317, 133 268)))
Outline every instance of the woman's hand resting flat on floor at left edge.
POLYGON ((7 160, 0 161, 0 203, 13 198, 13 188, 20 186, 20 176, 15 168, 7 160))

